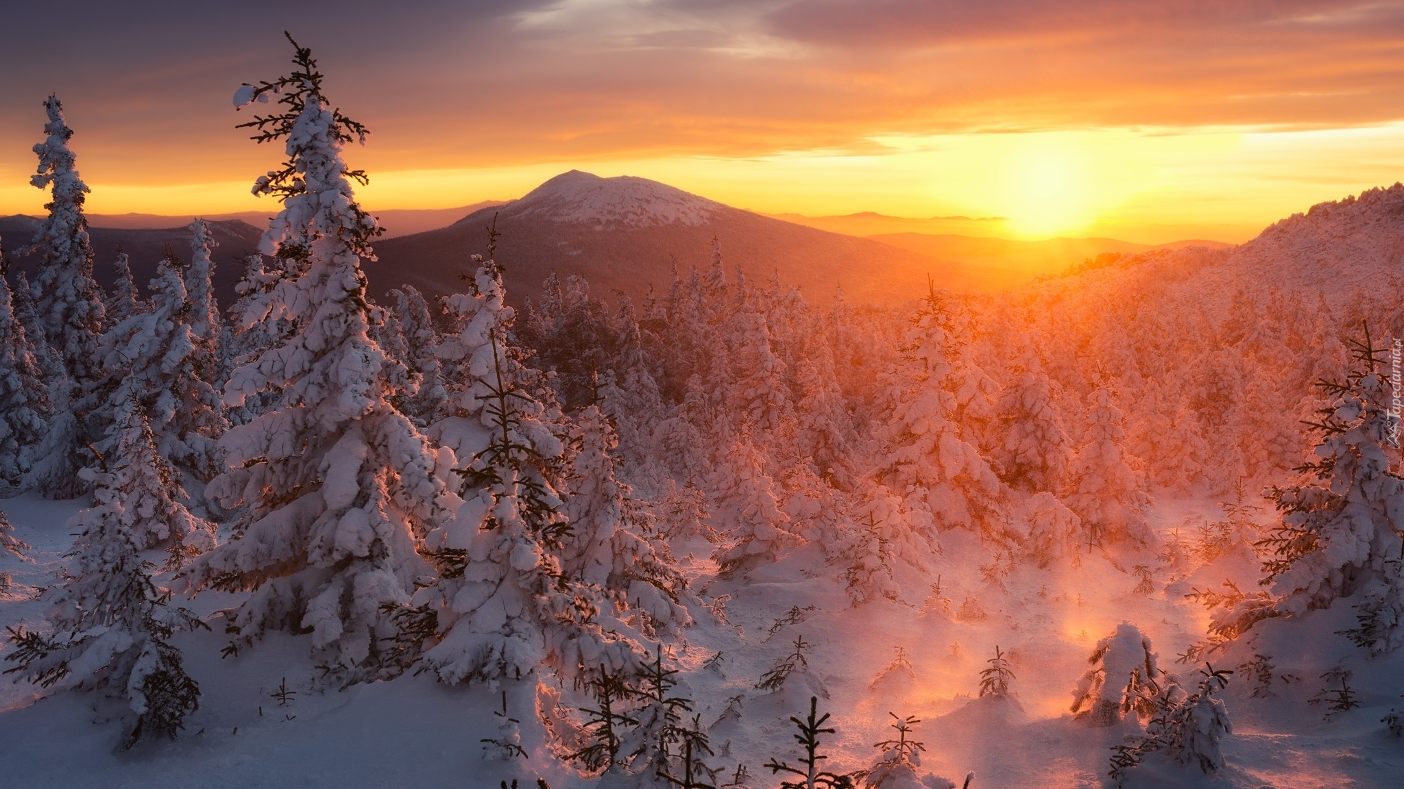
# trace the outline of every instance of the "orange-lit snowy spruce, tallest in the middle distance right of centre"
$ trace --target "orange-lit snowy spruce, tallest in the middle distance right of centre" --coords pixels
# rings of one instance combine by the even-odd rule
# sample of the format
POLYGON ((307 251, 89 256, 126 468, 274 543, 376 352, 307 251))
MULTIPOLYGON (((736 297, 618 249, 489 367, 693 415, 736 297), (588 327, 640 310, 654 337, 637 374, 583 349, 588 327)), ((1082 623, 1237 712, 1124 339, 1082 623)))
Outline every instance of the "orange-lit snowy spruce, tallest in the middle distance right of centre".
POLYGON ((903 494, 913 528, 928 539, 951 528, 995 536, 1007 489, 955 421, 960 403, 952 387, 960 382, 949 313, 932 286, 913 317, 903 364, 890 376, 894 407, 878 479, 903 494))

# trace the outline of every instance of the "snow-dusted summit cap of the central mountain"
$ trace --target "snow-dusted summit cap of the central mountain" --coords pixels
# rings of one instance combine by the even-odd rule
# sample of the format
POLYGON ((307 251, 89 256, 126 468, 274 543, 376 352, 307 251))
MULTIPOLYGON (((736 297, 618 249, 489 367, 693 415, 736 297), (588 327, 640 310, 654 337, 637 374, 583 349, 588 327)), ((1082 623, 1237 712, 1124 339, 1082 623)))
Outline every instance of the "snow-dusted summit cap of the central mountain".
POLYGON ((647 178, 601 178, 571 170, 536 187, 503 211, 605 230, 674 223, 706 225, 723 208, 726 206, 719 202, 647 178))

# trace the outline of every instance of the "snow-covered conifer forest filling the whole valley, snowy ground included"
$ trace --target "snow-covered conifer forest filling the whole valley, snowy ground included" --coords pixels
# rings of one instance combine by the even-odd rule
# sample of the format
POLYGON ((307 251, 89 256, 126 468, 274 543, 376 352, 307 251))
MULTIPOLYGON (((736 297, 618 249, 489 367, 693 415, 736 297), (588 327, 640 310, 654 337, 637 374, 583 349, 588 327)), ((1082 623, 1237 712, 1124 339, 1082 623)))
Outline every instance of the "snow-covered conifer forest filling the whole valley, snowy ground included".
POLYGON ((34 108, 0 783, 1404 781, 1404 187, 900 307, 724 237, 510 295, 490 222, 380 296, 368 129, 295 52, 234 95, 233 303, 202 220, 150 281, 94 248, 34 108))

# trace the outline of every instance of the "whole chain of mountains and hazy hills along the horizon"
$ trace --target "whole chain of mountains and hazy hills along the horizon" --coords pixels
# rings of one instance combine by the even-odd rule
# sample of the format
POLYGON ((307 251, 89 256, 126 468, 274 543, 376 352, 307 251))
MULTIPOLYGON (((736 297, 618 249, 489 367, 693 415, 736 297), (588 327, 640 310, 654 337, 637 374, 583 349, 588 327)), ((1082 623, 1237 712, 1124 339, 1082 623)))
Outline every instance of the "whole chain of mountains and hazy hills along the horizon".
MULTIPOLYGON (((557 175, 505 204, 372 213, 386 227, 376 241, 380 260, 365 267, 375 293, 403 284, 428 295, 461 289, 459 274, 468 270, 472 253, 486 250, 487 226, 496 216, 497 260, 507 270, 508 298, 515 303, 532 298, 552 272, 560 278, 584 277, 598 298, 628 295, 640 300, 650 286, 658 292, 668 288, 673 263, 684 277, 692 267, 705 268, 713 239, 722 243, 729 277, 736 268, 753 278, 778 272, 781 279, 800 285, 812 300, 828 299, 835 286, 842 286, 854 302, 887 305, 917 298, 928 275, 951 291, 997 292, 1067 271, 1104 253, 1230 246, 1198 240, 1158 247, 1118 239, 1021 241, 1008 237, 1001 218, 761 215, 646 178, 600 178, 580 171, 557 175)), ((243 272, 237 258, 253 250, 268 218, 243 212, 206 219, 223 225, 227 236, 216 250, 216 286, 220 300, 229 303, 233 282, 243 272)), ((110 277, 108 264, 122 244, 145 286, 167 243, 178 256, 188 256, 190 220, 149 213, 91 215, 98 279, 110 277)), ((32 218, 0 219, 10 248, 28 243, 37 227, 32 218)))

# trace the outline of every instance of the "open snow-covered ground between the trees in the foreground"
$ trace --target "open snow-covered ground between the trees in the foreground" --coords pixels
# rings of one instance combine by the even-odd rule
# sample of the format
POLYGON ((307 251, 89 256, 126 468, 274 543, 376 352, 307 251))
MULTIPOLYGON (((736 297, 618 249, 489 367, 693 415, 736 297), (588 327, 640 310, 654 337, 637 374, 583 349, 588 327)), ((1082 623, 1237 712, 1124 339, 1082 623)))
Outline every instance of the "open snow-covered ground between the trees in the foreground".
MULTIPOLYGON (((39 619, 38 604, 27 592, 52 583, 72 541, 65 521, 76 508, 32 494, 4 501, 17 536, 34 546, 35 562, 0 556, 0 571, 11 573, 17 584, 15 594, 0 601, 0 625, 39 619)), ((1172 529, 1191 531, 1195 518, 1214 517, 1210 498, 1161 497, 1151 522, 1167 536, 1172 529)), ((1071 691, 1088 668, 1094 644, 1122 621, 1133 622, 1154 643, 1160 665, 1192 685, 1199 665, 1177 663, 1175 656, 1203 637, 1207 616, 1184 592, 1224 578, 1250 588, 1255 578, 1254 563, 1230 553, 1209 566, 1191 564, 1186 577, 1160 570, 1154 594, 1144 595, 1133 591, 1137 578, 1132 573, 1094 552, 1078 556, 1081 567, 1066 562, 1046 570, 1021 567, 998 588, 981 576, 977 562, 960 559, 981 555, 976 539, 948 532, 939 597, 931 592, 936 578, 899 566, 900 601, 855 608, 814 548, 800 548, 748 578, 727 583, 713 577, 709 560, 688 559, 689 548, 706 555, 701 545, 675 548, 694 576, 692 588, 703 601, 723 601, 729 622, 694 605, 698 623, 675 654, 684 689, 710 729, 716 758, 709 761, 723 768, 720 783, 746 765, 746 783, 757 789, 779 783, 764 762, 772 757, 793 761, 788 717, 802 713, 812 694, 820 696, 821 712, 834 715, 837 733, 826 743, 830 769, 869 767, 878 755, 872 745, 887 738, 889 713, 896 713, 921 719, 915 737, 927 747, 922 772, 959 783, 973 771, 976 788, 1108 785, 1108 748, 1136 727, 1092 729, 1071 720, 1071 691), (793 651, 800 637, 812 644, 804 650, 809 670, 778 692, 755 689, 760 675, 793 651), (1012 703, 976 698, 979 672, 995 646, 1011 656, 1016 674, 1012 703), (899 649, 910 671, 890 668, 899 649), (717 653, 720 660, 708 665, 717 653)), ((211 592, 194 605, 209 616, 233 601, 211 592)), ((1262 654, 1279 677, 1268 694, 1252 698, 1255 682, 1241 668, 1234 675, 1226 694, 1234 723, 1224 740, 1227 769, 1209 779, 1193 769, 1147 762, 1127 786, 1397 786, 1404 775, 1404 743, 1390 737, 1380 719, 1391 708, 1404 709, 1404 657, 1370 660, 1334 635, 1353 626, 1352 614, 1338 605, 1302 621, 1272 621, 1227 653, 1212 654, 1216 668, 1240 668, 1262 654), (1310 699, 1327 682, 1321 675, 1334 667, 1351 671, 1348 682, 1360 706, 1327 719, 1325 705, 1310 699)), ((595 783, 550 758, 526 682, 508 682, 503 689, 508 710, 524 722, 522 744, 532 758, 489 762, 479 741, 496 733, 489 710, 501 703, 497 691, 449 688, 428 674, 344 691, 320 688, 305 637, 274 633, 253 650, 220 658, 225 636, 218 629, 216 623, 215 632, 178 639, 204 698, 177 741, 119 751, 121 727, 105 720, 114 708, 95 694, 49 692, 24 682, 0 687, 0 783, 34 789, 486 788, 536 775, 557 789, 595 783), (279 698, 281 688, 291 694, 279 698)))

